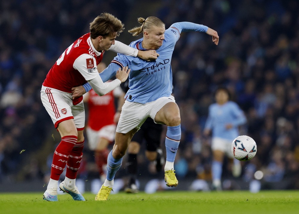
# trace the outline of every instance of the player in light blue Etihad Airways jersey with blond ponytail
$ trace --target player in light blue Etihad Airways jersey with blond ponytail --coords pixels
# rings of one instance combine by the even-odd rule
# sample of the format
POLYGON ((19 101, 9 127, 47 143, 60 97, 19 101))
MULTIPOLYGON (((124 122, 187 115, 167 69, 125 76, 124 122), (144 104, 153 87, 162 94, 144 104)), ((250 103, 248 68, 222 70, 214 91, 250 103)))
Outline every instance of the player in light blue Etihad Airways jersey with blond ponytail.
MULTIPOLYGON (((158 58, 155 61, 144 61, 124 55, 117 55, 112 63, 100 74, 103 81, 115 76, 115 68, 128 66, 129 90, 125 95, 120 119, 115 134, 115 144, 108 156, 107 178, 96 196, 96 200, 106 200, 112 190, 116 171, 121 166, 122 157, 135 132, 151 117, 155 123, 167 125, 165 139, 166 163, 164 167, 167 186, 176 187, 178 180, 174 173, 174 160, 181 139, 181 117, 179 107, 172 93, 171 58, 176 42, 181 32, 199 31, 212 36, 212 41, 218 45, 219 36, 216 31, 207 26, 191 22, 174 23, 167 30, 165 24, 157 17, 139 18, 141 26, 129 30, 133 36, 143 34, 130 44, 138 50, 155 50, 158 58)), ((84 85, 86 91, 89 86, 84 85)), ((80 89, 80 87, 79 87, 80 89)), ((73 96, 80 91, 74 88, 73 96)))

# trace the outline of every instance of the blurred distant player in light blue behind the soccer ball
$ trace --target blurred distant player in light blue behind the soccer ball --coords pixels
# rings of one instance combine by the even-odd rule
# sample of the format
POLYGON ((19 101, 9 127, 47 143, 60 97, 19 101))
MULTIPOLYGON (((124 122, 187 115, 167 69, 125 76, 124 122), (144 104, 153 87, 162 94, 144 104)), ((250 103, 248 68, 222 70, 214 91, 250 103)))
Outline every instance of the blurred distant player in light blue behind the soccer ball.
MULTIPOLYGON (((230 101, 228 89, 219 87, 215 92, 216 103, 209 107, 208 119, 205 123, 204 135, 212 132, 213 162, 212 179, 213 188, 221 190, 221 176, 224 155, 234 159, 231 154, 231 143, 239 136, 239 126, 246 123, 246 117, 237 103, 230 101)), ((234 159, 232 168, 233 175, 238 177, 241 174, 241 164, 234 159)))

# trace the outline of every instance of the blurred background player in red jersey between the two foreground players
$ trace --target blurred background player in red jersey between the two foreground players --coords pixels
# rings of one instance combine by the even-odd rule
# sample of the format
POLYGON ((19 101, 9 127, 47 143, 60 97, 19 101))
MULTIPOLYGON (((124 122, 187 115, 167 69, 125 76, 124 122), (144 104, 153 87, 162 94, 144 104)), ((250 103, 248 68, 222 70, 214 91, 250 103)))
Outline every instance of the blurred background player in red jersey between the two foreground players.
MULTIPOLYGON (((98 72, 102 72, 106 64, 101 62, 97 66, 98 72)), ((101 183, 106 179, 108 145, 114 141, 116 123, 115 122, 115 98, 123 100, 125 93, 120 87, 99 96, 91 89, 84 94, 83 102, 88 106, 88 122, 86 135, 89 149, 94 151, 94 160, 100 175, 101 183)), ((122 102, 122 101, 121 101, 122 102)), ((121 108, 121 106, 120 106, 121 108)))

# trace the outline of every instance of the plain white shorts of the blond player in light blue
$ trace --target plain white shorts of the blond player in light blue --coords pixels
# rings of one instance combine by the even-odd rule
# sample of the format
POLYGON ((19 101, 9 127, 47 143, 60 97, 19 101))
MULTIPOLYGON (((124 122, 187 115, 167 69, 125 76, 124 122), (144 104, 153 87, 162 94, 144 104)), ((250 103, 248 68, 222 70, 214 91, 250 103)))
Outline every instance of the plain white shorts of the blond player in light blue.
POLYGON ((135 128, 139 130, 147 117, 151 117, 156 123, 155 116, 157 112, 170 102, 176 102, 173 96, 160 97, 158 100, 145 104, 129 102, 126 100, 121 108, 116 132, 126 134, 135 128))

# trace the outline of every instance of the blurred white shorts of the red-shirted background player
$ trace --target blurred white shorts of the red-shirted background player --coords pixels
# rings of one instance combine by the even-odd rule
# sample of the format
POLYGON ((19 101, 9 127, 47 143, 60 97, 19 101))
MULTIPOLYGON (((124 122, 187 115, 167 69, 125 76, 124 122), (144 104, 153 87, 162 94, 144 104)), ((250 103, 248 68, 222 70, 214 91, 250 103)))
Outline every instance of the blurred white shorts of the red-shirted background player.
POLYGON ((86 128, 88 146, 90 150, 95 150, 100 138, 105 138, 110 142, 114 141, 116 125, 103 126, 100 130, 95 131, 90 127, 86 128))

